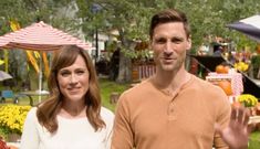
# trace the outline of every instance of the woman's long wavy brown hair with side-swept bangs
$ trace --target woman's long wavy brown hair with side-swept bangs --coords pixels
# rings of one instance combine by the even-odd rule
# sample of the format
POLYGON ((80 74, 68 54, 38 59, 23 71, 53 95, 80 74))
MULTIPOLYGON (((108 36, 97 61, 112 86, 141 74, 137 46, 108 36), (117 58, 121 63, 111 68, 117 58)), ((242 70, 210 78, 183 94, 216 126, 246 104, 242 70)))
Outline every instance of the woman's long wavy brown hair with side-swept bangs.
POLYGON ((58 84, 58 72, 66 66, 72 65, 77 55, 83 56, 87 70, 90 72, 90 88, 85 95, 86 116, 90 124, 95 130, 103 128, 105 123, 102 120, 101 113, 101 95, 97 83, 96 72, 92 60, 87 52, 75 45, 66 45, 54 52, 54 57, 51 63, 51 73, 48 78, 48 87, 50 96, 46 100, 38 106, 37 117, 39 123, 44 126, 50 132, 58 130, 56 115, 62 107, 62 94, 58 84))

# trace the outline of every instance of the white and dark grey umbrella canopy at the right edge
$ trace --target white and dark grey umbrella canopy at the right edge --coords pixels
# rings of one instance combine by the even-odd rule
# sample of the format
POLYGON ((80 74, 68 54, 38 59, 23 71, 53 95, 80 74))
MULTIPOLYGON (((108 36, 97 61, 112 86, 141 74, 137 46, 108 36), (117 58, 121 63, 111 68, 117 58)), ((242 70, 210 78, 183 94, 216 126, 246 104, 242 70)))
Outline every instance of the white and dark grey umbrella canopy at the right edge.
POLYGON ((228 28, 240 31, 257 42, 260 42, 260 14, 228 24, 228 28))

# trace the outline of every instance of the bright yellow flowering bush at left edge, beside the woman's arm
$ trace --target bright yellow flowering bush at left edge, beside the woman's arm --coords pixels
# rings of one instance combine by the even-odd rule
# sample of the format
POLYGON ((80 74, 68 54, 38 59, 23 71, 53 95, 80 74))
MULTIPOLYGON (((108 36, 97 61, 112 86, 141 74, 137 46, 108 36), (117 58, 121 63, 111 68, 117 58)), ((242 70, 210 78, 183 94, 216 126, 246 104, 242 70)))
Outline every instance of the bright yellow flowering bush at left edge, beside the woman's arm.
POLYGON ((0 127, 4 134, 22 134, 31 106, 4 105, 0 107, 0 127))

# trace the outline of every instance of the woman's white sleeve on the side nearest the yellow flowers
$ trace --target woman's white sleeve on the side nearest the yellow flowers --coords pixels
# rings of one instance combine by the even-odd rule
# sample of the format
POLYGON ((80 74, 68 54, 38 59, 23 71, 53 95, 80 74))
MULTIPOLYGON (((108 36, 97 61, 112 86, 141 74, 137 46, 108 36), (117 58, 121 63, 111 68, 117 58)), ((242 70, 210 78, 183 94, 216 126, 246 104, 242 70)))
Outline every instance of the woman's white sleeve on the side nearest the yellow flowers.
POLYGON ((27 115, 23 125, 20 149, 38 149, 39 148, 39 134, 37 130, 38 118, 37 108, 33 107, 27 115))

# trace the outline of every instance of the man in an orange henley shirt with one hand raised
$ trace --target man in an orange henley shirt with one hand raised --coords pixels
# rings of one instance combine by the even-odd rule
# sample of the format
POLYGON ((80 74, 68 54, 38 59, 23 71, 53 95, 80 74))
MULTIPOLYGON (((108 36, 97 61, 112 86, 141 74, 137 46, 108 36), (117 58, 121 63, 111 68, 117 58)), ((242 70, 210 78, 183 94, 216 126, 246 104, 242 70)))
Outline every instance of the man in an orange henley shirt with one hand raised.
POLYGON ((247 148, 245 110, 233 109, 230 119, 225 93, 185 70, 191 47, 186 15, 155 14, 149 35, 156 74, 119 97, 112 149, 247 148))

